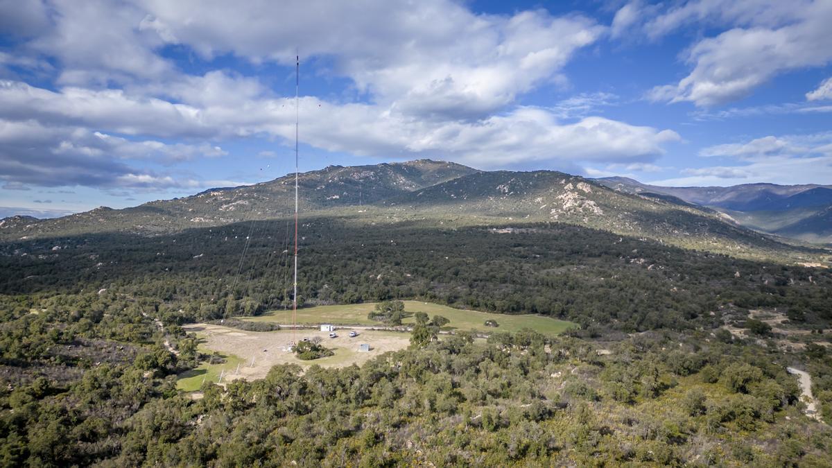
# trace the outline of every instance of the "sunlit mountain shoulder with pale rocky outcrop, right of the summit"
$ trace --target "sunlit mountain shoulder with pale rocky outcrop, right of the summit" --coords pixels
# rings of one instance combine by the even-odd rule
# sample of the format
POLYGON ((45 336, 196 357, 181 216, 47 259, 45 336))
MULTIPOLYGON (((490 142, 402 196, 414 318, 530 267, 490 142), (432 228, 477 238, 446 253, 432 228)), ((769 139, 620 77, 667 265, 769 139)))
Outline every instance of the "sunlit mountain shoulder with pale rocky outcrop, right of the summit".
POLYGON ((397 207, 400 218, 410 214, 468 225, 565 222, 732 256, 781 256, 792 248, 737 226, 721 212, 617 192, 562 172, 478 172, 384 203, 397 207))

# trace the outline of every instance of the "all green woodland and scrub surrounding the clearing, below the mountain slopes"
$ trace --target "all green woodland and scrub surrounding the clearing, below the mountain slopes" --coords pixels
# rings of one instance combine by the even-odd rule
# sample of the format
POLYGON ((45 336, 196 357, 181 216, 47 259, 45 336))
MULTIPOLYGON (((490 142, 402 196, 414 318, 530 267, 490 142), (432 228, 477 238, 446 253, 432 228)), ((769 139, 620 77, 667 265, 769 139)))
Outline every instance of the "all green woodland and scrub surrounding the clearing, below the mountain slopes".
POLYGON ((176 374, 208 356, 180 325, 289 303, 284 220, 6 243, 0 464, 830 463, 832 432, 802 415, 785 371, 815 376, 832 421, 830 352, 784 353, 748 313, 828 328, 829 271, 557 223, 315 218, 303 232, 302 305, 390 301, 379 312, 392 316, 418 298, 582 328, 436 339, 443 317, 423 314, 409 350, 360 368, 275 366, 191 400, 176 374))

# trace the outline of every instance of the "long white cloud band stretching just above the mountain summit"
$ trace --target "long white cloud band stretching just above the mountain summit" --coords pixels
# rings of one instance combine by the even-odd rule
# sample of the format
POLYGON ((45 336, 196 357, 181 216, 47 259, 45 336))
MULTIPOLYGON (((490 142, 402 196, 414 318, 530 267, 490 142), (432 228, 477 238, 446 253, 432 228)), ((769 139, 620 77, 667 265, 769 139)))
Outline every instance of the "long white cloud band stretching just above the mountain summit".
MULTIPOLYGON (((192 107, 134 98, 121 91, 68 88, 52 92, 0 82, 0 104, 0 117, 7 119, 37 119, 126 134, 223 137, 265 132, 285 139, 295 136, 295 107, 290 99, 192 107)), ((666 143, 680 140, 671 130, 602 117, 561 124, 556 114, 537 107, 519 107, 478 122, 436 121, 414 119, 373 104, 339 105, 304 97, 300 120, 301 139, 325 150, 373 157, 456 157, 480 167, 542 160, 643 162, 661 155, 666 143)), ((201 152, 210 153, 207 148, 201 152)))

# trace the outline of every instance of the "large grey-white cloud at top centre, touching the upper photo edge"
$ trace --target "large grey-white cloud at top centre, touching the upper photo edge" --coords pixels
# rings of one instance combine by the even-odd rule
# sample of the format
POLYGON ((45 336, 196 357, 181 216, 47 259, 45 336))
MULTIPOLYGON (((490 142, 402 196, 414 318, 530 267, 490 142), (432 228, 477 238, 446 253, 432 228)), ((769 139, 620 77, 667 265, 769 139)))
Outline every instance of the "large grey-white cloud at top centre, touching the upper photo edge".
POLYGON ((304 57, 331 57, 334 72, 391 112, 451 120, 488 117, 555 79, 605 31, 586 17, 477 15, 446 0, 143 6, 151 15, 146 28, 204 57, 230 52, 289 65, 299 47, 304 57), (313 13, 319 11, 327 13, 313 13))

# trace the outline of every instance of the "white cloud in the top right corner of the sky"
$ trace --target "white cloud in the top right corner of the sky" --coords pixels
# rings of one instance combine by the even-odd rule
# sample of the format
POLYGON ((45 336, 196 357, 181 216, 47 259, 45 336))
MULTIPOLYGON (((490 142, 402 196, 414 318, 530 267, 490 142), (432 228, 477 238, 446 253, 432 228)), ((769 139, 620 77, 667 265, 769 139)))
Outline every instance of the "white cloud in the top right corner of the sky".
POLYGON ((651 99, 714 106, 748 96, 782 72, 832 61, 832 2, 826 0, 687 2, 645 28, 651 37, 661 37, 694 21, 731 28, 690 47, 683 58, 691 73, 676 84, 653 88, 651 99))

